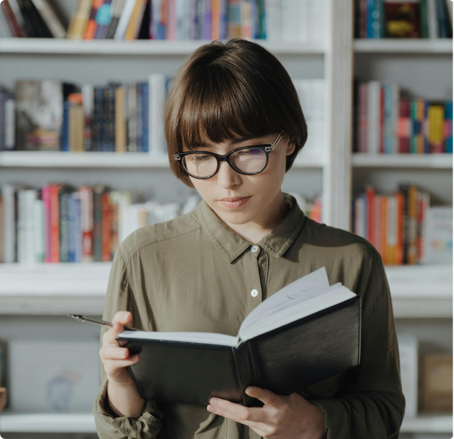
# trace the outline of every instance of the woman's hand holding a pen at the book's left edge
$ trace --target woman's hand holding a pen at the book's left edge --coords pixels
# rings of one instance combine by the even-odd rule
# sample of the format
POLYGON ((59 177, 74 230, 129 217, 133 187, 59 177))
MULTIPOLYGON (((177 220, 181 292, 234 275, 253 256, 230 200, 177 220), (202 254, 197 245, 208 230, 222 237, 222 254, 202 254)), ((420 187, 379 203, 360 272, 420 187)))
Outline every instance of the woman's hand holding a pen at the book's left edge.
POLYGON ((132 314, 129 311, 118 311, 112 320, 113 326, 103 335, 103 347, 99 351, 108 380, 121 386, 134 384, 126 367, 140 360, 139 354, 129 355, 129 349, 119 347, 115 340, 131 320, 132 314))

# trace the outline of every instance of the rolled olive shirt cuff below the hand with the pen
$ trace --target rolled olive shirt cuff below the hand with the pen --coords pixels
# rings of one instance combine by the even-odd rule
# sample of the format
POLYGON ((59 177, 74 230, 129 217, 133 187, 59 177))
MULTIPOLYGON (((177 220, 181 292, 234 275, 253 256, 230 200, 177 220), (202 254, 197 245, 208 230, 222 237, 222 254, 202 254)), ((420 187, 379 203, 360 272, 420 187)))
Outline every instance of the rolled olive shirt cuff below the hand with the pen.
POLYGON ((107 410, 108 380, 104 382, 99 391, 97 399, 97 412, 98 419, 107 422, 108 425, 115 428, 119 433, 124 434, 128 438, 134 439, 152 439, 157 436, 161 429, 161 418, 163 413, 154 407, 155 403, 147 401, 144 408, 144 413, 139 418, 130 418, 128 416, 121 416, 116 418, 112 416, 107 410))

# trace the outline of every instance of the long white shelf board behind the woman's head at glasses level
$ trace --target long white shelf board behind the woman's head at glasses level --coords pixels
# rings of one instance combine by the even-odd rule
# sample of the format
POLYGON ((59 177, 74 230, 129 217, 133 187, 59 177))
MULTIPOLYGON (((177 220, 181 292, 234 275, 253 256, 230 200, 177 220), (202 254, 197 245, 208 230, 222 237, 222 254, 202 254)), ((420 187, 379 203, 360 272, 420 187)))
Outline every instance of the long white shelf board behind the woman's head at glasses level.
MULTIPOLYGON (((295 168, 322 168, 324 159, 298 155, 295 168)), ((59 151, 9 151, 0 153, 0 168, 162 168, 168 157, 149 153, 61 153, 59 151)))

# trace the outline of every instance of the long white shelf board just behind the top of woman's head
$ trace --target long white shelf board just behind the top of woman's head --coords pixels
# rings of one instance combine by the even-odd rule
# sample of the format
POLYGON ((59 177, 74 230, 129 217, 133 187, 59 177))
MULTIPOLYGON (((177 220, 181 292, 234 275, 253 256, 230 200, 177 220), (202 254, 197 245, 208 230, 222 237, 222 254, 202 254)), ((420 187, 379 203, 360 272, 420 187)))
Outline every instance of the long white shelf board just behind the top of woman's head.
MULTIPOLYGON (((50 54, 50 55, 189 55, 211 40, 73 40, 43 38, 0 38, 0 54, 50 54)), ((270 52, 279 55, 324 55, 326 44, 270 42, 253 40, 270 52)))

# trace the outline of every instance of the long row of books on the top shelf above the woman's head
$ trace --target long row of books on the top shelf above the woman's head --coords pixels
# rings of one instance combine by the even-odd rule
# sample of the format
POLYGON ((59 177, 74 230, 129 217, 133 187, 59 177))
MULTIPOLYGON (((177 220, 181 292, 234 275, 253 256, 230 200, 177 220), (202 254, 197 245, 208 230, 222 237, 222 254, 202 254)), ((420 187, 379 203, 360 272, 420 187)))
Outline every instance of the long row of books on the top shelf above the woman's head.
POLYGON ((0 36, 323 41, 327 10, 327 0, 79 0, 66 31, 48 0, 4 0, 0 36))

